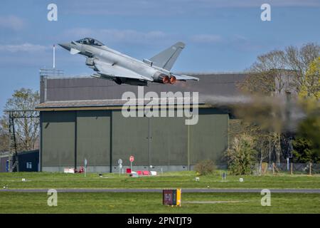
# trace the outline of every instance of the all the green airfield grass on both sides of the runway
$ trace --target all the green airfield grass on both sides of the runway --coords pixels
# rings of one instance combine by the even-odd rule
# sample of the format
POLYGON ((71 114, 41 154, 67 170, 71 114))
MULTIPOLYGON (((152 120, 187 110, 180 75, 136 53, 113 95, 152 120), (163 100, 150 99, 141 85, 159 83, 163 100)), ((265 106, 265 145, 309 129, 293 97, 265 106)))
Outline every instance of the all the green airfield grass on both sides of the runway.
MULTIPOLYGON (((320 176, 228 175, 220 171, 201 176, 195 172, 168 172, 158 177, 132 178, 127 175, 97 173, 63 174, 49 172, 0 173, 0 187, 8 189, 63 188, 217 188, 217 189, 320 189, 320 176), (26 181, 22 182, 21 179, 26 181)), ((272 193, 271 207, 262 207, 257 193, 182 193, 182 207, 162 205, 157 192, 58 192, 58 207, 48 207, 46 192, 0 192, 0 213, 320 213, 320 194, 272 193), (198 202, 198 203, 195 203, 198 202), (210 202, 210 203, 199 203, 210 202)))

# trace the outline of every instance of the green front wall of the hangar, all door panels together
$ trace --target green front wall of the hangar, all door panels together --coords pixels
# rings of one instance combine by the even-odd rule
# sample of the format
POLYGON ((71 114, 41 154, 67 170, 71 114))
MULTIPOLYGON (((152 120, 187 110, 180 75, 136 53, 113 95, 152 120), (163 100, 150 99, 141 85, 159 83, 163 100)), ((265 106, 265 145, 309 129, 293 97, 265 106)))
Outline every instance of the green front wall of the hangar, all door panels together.
POLYGON ((109 171, 119 158, 129 166, 130 155, 139 166, 195 165, 204 159, 221 164, 228 120, 212 108, 199 110, 198 124, 189 127, 185 118, 124 118, 121 110, 42 112, 42 166, 61 170, 87 158, 89 166, 109 171))

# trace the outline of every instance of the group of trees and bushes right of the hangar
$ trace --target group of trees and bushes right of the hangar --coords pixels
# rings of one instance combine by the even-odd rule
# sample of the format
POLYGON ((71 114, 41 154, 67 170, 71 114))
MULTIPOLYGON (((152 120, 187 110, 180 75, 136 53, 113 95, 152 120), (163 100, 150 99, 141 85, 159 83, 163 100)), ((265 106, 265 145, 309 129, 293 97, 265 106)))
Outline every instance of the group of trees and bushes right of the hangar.
POLYGON ((247 174, 257 162, 279 163, 287 157, 319 162, 320 46, 270 51, 258 56, 247 73, 238 88, 253 101, 235 108, 240 118, 230 125, 232 140, 225 154, 233 172, 247 174), (303 117, 295 121, 289 115, 303 117))

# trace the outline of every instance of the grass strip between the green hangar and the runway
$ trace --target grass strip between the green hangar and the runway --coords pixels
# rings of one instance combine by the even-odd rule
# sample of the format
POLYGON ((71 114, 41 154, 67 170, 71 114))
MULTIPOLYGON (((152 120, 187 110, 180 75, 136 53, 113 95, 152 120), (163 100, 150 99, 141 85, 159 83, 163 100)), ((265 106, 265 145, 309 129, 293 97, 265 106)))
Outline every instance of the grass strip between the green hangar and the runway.
POLYGON ((168 172, 157 177, 132 178, 127 175, 103 174, 64 174, 51 172, 17 172, 0 173, 0 187, 9 189, 33 188, 316 188, 320 189, 320 176, 277 175, 277 176, 240 176, 228 175, 226 181, 221 180, 220 172, 214 175, 201 176, 195 181, 195 172, 168 172), (22 182, 22 178, 26 179, 22 182))

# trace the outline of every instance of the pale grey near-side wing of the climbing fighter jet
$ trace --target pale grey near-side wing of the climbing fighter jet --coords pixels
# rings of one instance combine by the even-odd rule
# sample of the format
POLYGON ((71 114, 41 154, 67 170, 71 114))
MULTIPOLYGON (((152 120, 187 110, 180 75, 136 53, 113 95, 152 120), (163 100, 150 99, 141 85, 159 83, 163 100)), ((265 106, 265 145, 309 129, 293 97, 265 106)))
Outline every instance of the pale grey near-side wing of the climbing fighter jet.
POLYGON ((138 73, 130 71, 127 68, 117 66, 117 64, 95 61, 95 67, 97 68, 97 73, 111 78, 134 78, 143 81, 153 81, 152 78, 139 75, 138 73))

